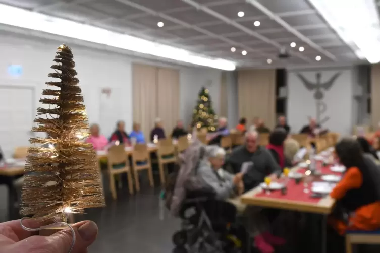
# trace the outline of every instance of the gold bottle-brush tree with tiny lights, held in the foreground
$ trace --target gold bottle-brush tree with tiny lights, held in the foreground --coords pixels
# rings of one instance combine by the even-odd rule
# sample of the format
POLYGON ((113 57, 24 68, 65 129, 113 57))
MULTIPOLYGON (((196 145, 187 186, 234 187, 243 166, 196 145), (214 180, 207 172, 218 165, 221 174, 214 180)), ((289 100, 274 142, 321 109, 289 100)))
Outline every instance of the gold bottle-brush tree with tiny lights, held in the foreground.
POLYGON ((61 217, 68 213, 84 213, 84 209, 105 206, 96 153, 84 139, 88 136, 87 115, 75 62, 70 47, 58 47, 48 76, 60 79, 46 82, 40 99, 46 108, 37 108, 32 132, 47 137, 30 138, 35 144, 28 150, 26 176, 22 189, 23 215, 61 217))

